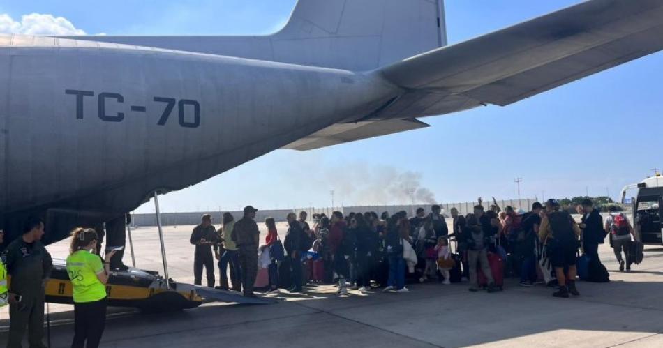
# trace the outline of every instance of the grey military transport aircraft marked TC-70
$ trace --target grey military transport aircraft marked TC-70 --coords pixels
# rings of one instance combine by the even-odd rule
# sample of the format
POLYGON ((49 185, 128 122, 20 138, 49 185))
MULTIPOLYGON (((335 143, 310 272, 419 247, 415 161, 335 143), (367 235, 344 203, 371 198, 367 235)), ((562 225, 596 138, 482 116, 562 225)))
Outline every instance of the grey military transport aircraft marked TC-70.
POLYGON ((0 227, 46 243, 275 149, 506 106, 663 48, 663 1, 591 0, 447 46, 443 0, 299 0, 269 36, 0 36, 0 227))

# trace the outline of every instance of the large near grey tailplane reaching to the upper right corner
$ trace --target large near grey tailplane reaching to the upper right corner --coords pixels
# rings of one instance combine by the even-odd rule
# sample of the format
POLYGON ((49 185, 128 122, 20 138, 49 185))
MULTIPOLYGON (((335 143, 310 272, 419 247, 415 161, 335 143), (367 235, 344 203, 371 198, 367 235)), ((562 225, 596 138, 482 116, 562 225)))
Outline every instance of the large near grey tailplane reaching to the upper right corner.
POLYGON ((663 1, 586 1, 376 70, 408 91, 379 116, 505 106, 662 49, 663 1))

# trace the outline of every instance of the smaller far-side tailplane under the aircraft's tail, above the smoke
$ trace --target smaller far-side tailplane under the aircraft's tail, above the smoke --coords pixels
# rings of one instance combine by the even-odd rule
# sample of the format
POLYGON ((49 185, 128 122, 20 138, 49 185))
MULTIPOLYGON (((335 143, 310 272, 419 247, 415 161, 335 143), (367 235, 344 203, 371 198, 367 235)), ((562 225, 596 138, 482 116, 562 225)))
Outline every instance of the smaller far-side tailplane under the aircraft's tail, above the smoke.
POLYGON ((308 137, 292 142, 283 149, 308 151, 325 146, 354 142, 355 140, 379 137, 406 130, 429 127, 417 119, 389 119, 381 121, 360 121, 356 123, 336 123, 308 137))

